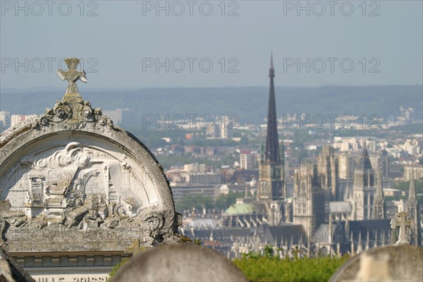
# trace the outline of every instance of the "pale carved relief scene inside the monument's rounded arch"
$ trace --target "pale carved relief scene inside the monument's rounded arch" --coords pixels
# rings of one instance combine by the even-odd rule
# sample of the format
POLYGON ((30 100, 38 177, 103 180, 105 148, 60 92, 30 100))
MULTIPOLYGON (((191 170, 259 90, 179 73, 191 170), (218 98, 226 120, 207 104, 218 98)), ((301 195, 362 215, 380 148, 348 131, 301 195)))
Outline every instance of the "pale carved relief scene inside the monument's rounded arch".
MULTIPOLYGON (((116 159, 106 151, 69 142, 64 149, 52 148, 40 155, 22 157, 21 166, 6 181, 5 200, 11 203, 6 216, 44 221, 37 223, 39 228, 56 223, 87 230, 116 228, 125 220, 134 221, 149 207, 144 186, 135 178, 125 154, 116 159)), ((159 217, 149 215, 156 221, 159 217)), ((152 221, 146 224, 154 230, 163 226, 152 221)))

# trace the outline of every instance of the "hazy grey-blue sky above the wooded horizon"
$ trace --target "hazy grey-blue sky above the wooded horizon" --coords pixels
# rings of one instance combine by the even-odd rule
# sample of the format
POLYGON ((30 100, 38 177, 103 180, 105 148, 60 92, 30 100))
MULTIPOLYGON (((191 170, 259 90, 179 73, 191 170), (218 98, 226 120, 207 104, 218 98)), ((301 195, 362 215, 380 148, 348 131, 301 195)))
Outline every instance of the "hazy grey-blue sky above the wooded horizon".
POLYGON ((423 1, 49 3, 0 2, 2 89, 66 87, 70 56, 80 90, 268 85, 271 49, 276 85, 423 84, 423 1))

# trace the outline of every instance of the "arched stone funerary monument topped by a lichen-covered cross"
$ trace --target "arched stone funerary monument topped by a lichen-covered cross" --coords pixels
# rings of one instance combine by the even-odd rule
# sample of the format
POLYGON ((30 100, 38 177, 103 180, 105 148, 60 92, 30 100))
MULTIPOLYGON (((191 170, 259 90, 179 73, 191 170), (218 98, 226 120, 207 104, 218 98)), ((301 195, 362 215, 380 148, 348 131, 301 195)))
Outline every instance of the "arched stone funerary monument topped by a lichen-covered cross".
POLYGON ((82 100, 78 63, 58 71, 53 109, 0 135, 0 243, 36 281, 106 281, 140 247, 179 240, 161 166, 82 100))

